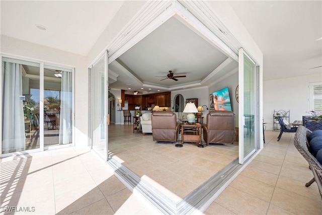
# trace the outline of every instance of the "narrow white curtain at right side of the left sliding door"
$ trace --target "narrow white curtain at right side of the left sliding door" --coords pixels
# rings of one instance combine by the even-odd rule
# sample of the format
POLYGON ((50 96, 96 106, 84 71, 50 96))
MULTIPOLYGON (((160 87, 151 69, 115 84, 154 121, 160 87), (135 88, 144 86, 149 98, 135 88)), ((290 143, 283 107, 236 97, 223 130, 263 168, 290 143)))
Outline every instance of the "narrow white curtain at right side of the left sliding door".
POLYGON ((72 73, 62 71, 60 95, 59 144, 70 144, 72 141, 72 73))

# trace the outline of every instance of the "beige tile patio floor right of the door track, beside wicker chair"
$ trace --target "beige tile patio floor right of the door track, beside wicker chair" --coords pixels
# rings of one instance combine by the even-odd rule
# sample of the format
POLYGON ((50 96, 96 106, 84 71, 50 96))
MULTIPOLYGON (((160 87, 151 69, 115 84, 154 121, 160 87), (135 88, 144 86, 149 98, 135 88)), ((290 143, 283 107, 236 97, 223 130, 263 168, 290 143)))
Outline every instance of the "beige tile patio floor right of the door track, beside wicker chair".
POLYGON ((207 208, 205 214, 321 214, 322 200, 294 133, 265 131, 262 152, 207 208))

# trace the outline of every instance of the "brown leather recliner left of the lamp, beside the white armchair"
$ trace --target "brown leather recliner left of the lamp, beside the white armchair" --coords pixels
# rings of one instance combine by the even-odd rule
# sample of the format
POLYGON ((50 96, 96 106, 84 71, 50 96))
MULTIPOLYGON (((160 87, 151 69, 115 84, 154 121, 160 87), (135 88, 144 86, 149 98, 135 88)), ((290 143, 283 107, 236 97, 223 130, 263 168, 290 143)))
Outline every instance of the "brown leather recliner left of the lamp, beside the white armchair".
POLYGON ((174 112, 153 111, 151 121, 153 141, 178 141, 179 124, 174 112))

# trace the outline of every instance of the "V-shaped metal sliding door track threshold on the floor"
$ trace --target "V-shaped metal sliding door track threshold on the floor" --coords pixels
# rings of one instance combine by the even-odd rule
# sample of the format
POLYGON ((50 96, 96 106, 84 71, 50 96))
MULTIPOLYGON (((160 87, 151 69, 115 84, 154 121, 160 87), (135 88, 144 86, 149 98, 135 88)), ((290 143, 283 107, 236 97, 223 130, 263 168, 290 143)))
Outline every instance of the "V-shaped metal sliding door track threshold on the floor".
MULTIPOLYGON (((236 158, 184 198, 174 200, 176 198, 161 192, 158 189, 159 187, 152 185, 143 177, 140 178, 122 165, 116 156, 113 156, 107 163, 114 169, 119 180, 130 190, 138 191, 164 214, 187 214, 204 211, 245 165, 240 165, 238 158, 236 158)), ((173 195, 175 196, 175 194, 173 195)))

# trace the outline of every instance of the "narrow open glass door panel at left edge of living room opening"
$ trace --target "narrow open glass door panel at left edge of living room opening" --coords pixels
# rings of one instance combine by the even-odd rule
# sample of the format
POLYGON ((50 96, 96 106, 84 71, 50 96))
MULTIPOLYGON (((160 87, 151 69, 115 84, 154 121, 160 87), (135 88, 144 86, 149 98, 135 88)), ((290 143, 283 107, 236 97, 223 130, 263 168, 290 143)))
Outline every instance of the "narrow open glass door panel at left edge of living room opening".
POLYGON ((107 160, 107 53, 92 66, 92 148, 107 160))

